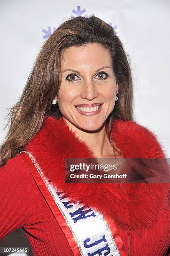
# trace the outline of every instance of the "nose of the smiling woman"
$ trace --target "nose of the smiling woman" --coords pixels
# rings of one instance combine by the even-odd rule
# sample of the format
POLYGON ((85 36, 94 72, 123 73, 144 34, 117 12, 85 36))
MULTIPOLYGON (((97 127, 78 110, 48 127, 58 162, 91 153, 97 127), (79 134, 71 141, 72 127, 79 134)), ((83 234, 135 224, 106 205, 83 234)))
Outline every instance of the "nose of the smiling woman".
POLYGON ((88 84, 84 84, 81 92, 81 98, 86 98, 87 100, 93 100, 94 98, 99 96, 96 86, 90 82, 88 84))

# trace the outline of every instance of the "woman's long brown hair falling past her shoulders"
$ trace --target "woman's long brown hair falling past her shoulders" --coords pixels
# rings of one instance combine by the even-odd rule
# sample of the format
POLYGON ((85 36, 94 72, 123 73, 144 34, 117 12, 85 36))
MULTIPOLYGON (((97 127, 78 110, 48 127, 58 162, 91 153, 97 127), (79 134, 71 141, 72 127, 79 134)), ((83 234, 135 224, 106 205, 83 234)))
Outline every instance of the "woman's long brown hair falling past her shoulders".
POLYGON ((62 50, 88 43, 101 44, 112 56, 119 92, 106 125, 109 141, 117 151, 110 138, 114 118, 132 120, 132 77, 127 54, 112 26, 94 15, 88 18, 79 16, 64 21, 43 44, 20 99, 7 115, 10 127, 0 146, 0 166, 23 149, 49 115, 55 118, 62 116, 58 105, 52 105, 61 84, 62 50))

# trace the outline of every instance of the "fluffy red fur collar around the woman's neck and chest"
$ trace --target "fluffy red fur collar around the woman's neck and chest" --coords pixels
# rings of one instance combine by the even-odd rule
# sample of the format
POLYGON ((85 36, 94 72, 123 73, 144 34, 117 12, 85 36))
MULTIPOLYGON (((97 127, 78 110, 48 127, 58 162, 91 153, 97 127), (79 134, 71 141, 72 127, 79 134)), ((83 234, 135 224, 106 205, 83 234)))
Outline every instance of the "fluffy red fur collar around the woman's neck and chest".
MULTIPOLYGON (((165 157, 155 135, 135 121, 115 119, 111 137, 124 158, 165 157)), ((63 118, 48 117, 24 150, 33 154, 46 176, 71 200, 112 216, 123 229, 141 232, 151 228, 160 209, 167 205, 165 184, 65 184, 65 159, 94 155, 63 118)))

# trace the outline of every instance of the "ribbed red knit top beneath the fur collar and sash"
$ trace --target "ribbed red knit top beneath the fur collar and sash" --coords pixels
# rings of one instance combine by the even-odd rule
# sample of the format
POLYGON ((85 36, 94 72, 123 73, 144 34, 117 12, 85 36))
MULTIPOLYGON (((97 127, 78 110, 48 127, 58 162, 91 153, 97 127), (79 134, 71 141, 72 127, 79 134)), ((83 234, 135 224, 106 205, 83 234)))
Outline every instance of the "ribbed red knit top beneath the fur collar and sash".
MULTIPOLYGON (((49 125, 50 131, 52 124, 53 118, 48 118, 46 125, 49 125)), ((49 135, 47 126, 44 131, 49 135)), ((42 135, 43 133, 41 133, 42 135)), ((118 135, 117 133, 117 138, 119 137, 118 135)), ((38 137, 34 139, 35 142, 37 142, 36 139, 38 137)), ((117 146, 123 152, 120 140, 117 146)), ((27 150, 28 147, 26 147, 27 150)), ((158 150, 158 148, 156 149, 158 150)), ((34 255, 74 255, 63 230, 58 225, 45 198, 38 189, 28 165, 21 156, 16 155, 13 159, 9 159, 5 166, 0 168, 0 186, 3 188, 0 193, 0 240, 11 231, 23 227, 34 255)), ((150 195, 145 197, 145 199, 149 201, 150 195)), ((154 223, 151 229, 146 228, 142 231, 142 236, 137 236, 135 230, 129 228, 127 239, 126 229, 117 225, 119 236, 122 238, 124 247, 129 255, 163 256, 166 253, 167 248, 170 246, 170 210, 162 207, 158 209, 158 212, 156 223, 154 223)), ((124 216, 124 218, 126 217, 124 216)))

